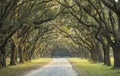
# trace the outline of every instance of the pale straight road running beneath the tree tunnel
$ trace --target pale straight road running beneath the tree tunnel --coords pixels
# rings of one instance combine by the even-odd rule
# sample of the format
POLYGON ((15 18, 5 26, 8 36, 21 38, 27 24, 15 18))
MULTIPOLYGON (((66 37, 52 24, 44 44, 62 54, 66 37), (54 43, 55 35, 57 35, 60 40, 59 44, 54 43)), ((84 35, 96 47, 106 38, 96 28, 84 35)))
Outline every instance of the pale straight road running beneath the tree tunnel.
POLYGON ((77 76, 66 58, 54 58, 48 65, 24 76, 77 76))

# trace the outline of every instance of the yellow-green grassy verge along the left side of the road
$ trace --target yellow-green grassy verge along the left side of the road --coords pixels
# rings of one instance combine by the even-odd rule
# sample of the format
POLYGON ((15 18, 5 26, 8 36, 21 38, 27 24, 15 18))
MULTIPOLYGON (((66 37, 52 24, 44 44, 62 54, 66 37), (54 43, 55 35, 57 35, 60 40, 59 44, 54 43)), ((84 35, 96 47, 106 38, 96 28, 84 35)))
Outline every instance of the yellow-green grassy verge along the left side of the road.
POLYGON ((6 68, 0 69, 0 76, 23 76, 22 74, 48 64, 50 61, 50 58, 40 58, 25 62, 24 64, 8 66, 6 68))

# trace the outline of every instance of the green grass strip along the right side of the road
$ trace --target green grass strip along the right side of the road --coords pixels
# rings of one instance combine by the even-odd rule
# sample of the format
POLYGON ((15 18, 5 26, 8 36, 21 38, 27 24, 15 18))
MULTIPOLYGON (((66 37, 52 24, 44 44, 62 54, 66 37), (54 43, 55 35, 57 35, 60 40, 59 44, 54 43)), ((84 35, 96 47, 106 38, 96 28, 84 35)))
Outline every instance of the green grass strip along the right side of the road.
POLYGON ((84 73, 84 76, 120 76, 120 69, 112 69, 113 66, 108 67, 102 63, 95 64, 80 58, 71 58, 69 60, 73 67, 77 69, 77 72, 84 73))

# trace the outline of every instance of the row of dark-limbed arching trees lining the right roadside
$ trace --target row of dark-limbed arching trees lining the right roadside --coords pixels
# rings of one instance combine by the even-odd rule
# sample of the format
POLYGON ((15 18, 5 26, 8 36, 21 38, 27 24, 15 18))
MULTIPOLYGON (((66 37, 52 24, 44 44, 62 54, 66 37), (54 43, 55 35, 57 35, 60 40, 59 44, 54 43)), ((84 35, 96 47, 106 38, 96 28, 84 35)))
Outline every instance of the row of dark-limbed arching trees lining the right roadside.
MULTIPOLYGON (((74 35, 59 28, 79 46, 86 48, 91 59, 110 63, 110 48, 113 50, 114 67, 120 67, 120 1, 119 0, 57 0, 64 11, 74 35), (67 15, 66 15, 67 14, 67 15), (73 17, 70 17, 72 15, 73 17), (101 47, 100 47, 101 45, 101 47)), ((61 21, 67 23, 67 21, 61 21)))

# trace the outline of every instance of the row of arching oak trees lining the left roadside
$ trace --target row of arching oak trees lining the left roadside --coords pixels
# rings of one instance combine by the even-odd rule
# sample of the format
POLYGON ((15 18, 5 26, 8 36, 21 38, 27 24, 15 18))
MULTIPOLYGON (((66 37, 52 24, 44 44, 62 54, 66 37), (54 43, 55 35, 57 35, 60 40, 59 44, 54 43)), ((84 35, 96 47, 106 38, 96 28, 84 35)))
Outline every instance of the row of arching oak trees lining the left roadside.
POLYGON ((60 14, 57 8, 53 0, 0 0, 0 67, 6 67, 9 55, 15 65, 17 57, 23 63, 44 50, 46 34, 53 29, 48 21, 60 14))

